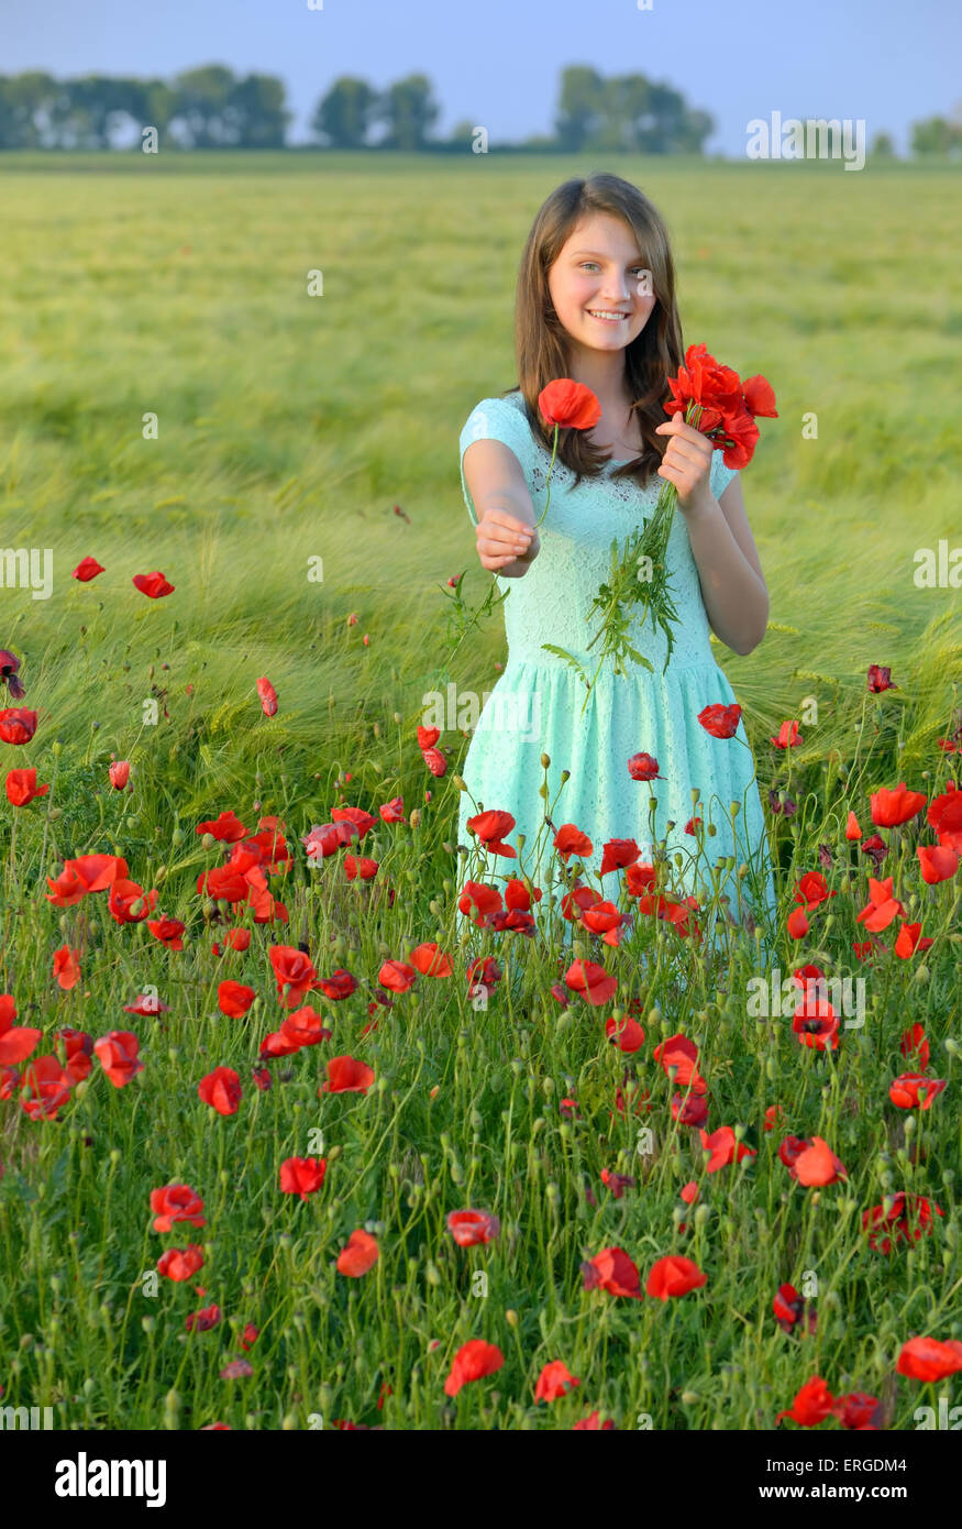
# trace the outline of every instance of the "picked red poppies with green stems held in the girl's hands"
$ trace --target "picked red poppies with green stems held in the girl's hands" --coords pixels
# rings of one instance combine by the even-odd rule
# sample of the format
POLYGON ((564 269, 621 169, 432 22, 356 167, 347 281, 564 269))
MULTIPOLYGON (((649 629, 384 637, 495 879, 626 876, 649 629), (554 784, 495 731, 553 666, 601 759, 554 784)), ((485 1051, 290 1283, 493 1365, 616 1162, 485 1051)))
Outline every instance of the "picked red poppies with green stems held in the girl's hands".
MULTIPOLYGON (((720 365, 705 346, 688 346, 685 365, 679 367, 678 376, 668 378, 668 388, 671 398, 665 404, 665 414, 681 413, 687 425, 693 425, 704 436, 708 436, 714 442, 714 450, 723 453, 722 460, 728 468, 743 468, 751 462, 759 440, 756 417, 777 417, 771 384, 763 376, 746 378, 742 382, 737 372, 720 365)), ((544 420, 555 427, 551 468, 555 463, 560 428, 592 430, 601 419, 601 405, 596 396, 589 387, 572 382, 570 378, 549 382, 538 394, 538 408, 544 420)), ((551 503, 551 468, 548 471, 548 500, 537 521, 538 526, 551 503)), ((584 680, 587 693, 581 714, 584 714, 587 697, 606 659, 612 659, 616 674, 627 674, 626 659, 653 671, 652 661, 639 653, 632 642, 632 627, 638 612, 641 612, 641 624, 650 618, 652 624, 659 625, 665 633, 664 670, 668 667, 674 647, 673 625, 679 619, 667 570, 668 537, 676 503, 674 483, 664 482, 655 512, 642 529, 629 537, 621 549, 618 541, 612 541, 609 581, 601 586, 590 607, 592 613, 598 616, 598 630, 587 647, 590 650, 596 642, 601 642, 593 677, 589 680, 574 654, 554 647, 554 644, 543 644, 544 648, 566 659, 584 680)))

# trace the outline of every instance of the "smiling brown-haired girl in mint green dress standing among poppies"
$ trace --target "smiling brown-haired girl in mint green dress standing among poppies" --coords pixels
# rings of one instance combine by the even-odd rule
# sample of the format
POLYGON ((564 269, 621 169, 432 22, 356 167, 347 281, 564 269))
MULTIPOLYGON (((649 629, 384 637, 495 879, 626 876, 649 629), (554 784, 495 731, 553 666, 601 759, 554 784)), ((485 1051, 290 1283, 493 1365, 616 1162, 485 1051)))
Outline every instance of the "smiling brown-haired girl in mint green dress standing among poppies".
POLYGON ((575 824, 592 853, 569 856, 569 864, 580 861, 606 899, 618 904, 627 873, 606 867, 600 879, 604 844, 635 839, 639 862, 652 864, 664 839, 673 873, 668 896, 697 898, 704 934, 723 939, 722 914, 765 931, 775 901, 745 728, 739 723, 737 737, 717 739, 697 717, 705 706, 734 702, 711 653, 710 627, 736 653, 751 653, 765 635, 768 589, 737 471, 681 416, 665 419, 667 378, 684 364, 674 266, 656 209, 619 176, 567 180, 537 214, 517 284, 515 352, 520 387, 482 399, 460 434, 477 555, 499 590, 509 590, 508 664, 462 769, 468 792, 460 797, 459 842, 471 850, 462 885, 468 878, 497 884, 528 875, 543 893, 532 904, 540 924, 552 882, 555 899, 561 890, 555 830, 575 824), (592 388, 601 417, 590 431, 558 431, 551 503, 538 531, 554 428, 537 399, 555 378, 592 388), (610 543, 622 544, 639 529, 665 480, 679 494, 668 543, 679 613, 671 661, 662 677, 664 633, 650 619, 636 622, 630 639, 653 671, 638 665, 630 677, 616 676, 609 662, 581 714, 583 682, 543 644, 566 648, 595 673, 589 609, 609 576, 610 543), (627 761, 639 752, 658 761, 650 783, 629 774, 627 761), (544 780, 548 795, 540 790, 544 780), (508 838, 517 849, 525 835, 520 859, 479 844, 466 827, 476 803, 515 818, 508 838), (694 818, 702 820, 700 853, 694 818), (742 865, 748 873, 739 876, 742 865), (714 917, 707 917, 713 899, 714 917))

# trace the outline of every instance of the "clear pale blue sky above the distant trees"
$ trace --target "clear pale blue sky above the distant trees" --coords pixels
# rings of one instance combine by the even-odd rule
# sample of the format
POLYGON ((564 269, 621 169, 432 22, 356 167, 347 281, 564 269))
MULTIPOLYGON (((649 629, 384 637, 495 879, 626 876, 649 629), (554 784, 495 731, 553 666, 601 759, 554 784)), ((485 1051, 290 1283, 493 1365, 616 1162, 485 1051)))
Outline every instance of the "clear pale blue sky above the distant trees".
POLYGON ((904 153, 912 121, 962 99, 959 58, 959 0, 0 0, 3 73, 277 73, 294 139, 338 75, 382 89, 419 70, 439 130, 471 118, 496 150, 551 131, 560 70, 592 64, 668 81, 714 116, 714 151, 742 157, 748 121, 777 110, 863 118, 904 153))

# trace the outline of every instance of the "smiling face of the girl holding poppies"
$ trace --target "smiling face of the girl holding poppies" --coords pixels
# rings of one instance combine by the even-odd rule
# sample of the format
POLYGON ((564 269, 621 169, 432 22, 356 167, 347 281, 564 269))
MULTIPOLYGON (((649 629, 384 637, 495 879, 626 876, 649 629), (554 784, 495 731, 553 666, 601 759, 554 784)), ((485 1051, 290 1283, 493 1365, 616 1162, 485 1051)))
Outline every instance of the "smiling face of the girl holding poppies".
POLYGON ((548 291, 577 346, 622 350, 648 321, 652 274, 619 217, 596 213, 578 223, 548 272, 548 291))

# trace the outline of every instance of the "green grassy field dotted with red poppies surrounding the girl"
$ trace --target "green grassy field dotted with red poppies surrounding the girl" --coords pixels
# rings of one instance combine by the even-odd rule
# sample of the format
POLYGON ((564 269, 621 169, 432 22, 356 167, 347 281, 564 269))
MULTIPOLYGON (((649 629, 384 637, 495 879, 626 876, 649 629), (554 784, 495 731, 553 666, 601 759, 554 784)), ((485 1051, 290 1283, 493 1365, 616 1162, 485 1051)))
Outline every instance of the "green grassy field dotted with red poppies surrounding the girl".
POLYGON ((951 171, 618 167, 778 393, 762 959, 563 803, 549 919, 424 723, 505 662, 457 433, 589 167, 194 161, 0 162, 5 1425, 957 1427, 951 171))

